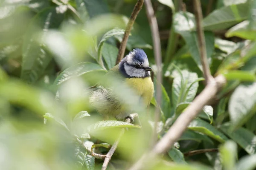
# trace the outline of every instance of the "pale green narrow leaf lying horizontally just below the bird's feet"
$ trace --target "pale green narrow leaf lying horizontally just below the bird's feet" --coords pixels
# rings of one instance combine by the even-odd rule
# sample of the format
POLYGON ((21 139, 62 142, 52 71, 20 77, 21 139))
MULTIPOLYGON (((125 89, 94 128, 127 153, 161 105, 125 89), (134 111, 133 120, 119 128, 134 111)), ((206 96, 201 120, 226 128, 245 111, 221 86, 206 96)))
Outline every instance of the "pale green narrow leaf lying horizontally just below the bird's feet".
POLYGON ((99 121, 94 123, 93 125, 90 125, 88 127, 88 130, 101 130, 101 129, 108 129, 108 128, 114 128, 114 127, 129 127, 129 128, 140 128, 138 125, 134 125, 128 122, 122 122, 117 120, 105 120, 105 121, 99 121))

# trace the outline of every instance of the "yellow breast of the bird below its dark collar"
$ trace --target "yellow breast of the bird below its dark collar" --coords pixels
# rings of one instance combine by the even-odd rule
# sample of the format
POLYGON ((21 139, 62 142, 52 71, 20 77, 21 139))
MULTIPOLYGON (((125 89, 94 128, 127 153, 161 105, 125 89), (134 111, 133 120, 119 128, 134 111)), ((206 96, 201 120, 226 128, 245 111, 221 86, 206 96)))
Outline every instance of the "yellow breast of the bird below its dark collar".
POLYGON ((133 88, 139 96, 142 96, 145 104, 149 105, 154 94, 154 84, 150 77, 127 78, 127 84, 133 88))

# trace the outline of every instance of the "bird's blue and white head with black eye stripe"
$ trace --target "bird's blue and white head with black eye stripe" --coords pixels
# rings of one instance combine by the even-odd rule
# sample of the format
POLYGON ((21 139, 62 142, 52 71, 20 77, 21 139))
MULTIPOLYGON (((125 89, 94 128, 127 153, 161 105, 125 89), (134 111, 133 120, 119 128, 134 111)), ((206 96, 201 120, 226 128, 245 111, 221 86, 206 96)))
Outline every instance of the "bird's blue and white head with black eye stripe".
POLYGON ((120 62, 119 70, 126 77, 150 77, 151 67, 148 66, 148 57, 140 48, 130 51, 120 62))

